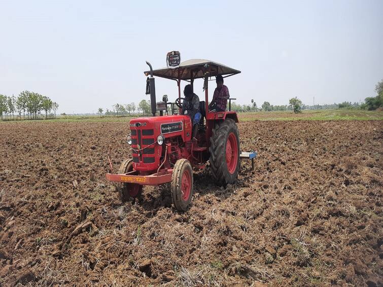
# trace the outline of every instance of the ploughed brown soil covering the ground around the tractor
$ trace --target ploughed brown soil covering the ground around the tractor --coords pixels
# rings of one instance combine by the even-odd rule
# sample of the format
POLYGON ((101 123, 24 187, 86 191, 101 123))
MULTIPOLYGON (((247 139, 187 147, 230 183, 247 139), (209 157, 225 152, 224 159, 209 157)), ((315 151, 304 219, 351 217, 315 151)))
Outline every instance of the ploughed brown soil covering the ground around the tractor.
POLYGON ((381 121, 246 122, 235 185, 122 204, 127 123, 0 125, 0 285, 382 285, 381 121))

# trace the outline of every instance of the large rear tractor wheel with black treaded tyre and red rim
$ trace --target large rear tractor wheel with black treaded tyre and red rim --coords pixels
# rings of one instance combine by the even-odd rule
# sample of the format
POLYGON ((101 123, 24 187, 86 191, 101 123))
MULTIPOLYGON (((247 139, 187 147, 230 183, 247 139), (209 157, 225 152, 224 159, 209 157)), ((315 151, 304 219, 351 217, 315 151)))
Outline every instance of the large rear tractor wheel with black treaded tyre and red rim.
POLYGON ((239 132, 232 119, 217 123, 210 138, 210 166, 217 185, 236 181, 239 170, 239 132))

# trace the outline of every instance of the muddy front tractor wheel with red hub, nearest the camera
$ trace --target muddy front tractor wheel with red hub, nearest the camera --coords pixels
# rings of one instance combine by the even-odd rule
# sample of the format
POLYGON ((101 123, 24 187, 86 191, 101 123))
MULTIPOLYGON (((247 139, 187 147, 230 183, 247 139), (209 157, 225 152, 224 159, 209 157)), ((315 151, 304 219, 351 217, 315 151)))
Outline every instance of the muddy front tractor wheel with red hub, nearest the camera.
POLYGON ((171 200, 180 211, 186 211, 193 196, 193 169, 187 159, 179 159, 171 175, 171 200))

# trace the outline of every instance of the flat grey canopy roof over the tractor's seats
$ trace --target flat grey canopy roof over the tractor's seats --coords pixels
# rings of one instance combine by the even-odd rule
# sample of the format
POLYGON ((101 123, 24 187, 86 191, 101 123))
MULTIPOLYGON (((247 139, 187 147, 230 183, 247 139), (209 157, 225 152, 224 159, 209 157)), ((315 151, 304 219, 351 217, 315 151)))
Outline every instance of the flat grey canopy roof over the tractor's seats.
MULTIPOLYGON (((160 68, 153 70, 153 76, 176 81, 186 81, 204 78, 206 72, 208 72, 208 77, 218 75, 226 75, 226 77, 229 77, 239 74, 240 70, 210 60, 191 59, 182 62, 177 68, 160 68)), ((151 71, 145 71, 144 73, 145 75, 150 75, 151 71)))

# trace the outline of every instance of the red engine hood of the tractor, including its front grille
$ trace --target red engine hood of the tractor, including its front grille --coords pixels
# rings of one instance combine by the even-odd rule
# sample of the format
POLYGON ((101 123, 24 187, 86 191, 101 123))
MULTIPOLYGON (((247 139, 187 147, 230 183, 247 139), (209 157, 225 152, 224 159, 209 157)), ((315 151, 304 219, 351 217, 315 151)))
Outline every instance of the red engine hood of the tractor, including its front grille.
POLYGON ((133 168, 140 173, 157 170, 163 163, 166 146, 167 164, 183 158, 185 142, 191 140, 189 116, 173 115, 137 118, 130 121, 128 143, 132 148, 133 168))

